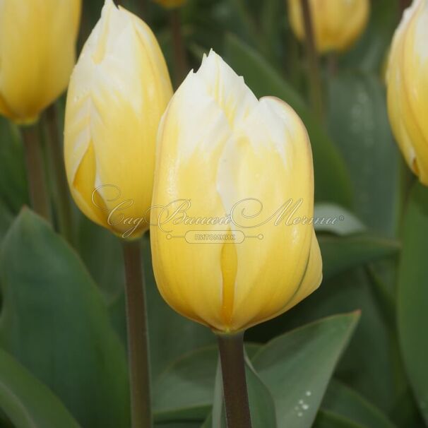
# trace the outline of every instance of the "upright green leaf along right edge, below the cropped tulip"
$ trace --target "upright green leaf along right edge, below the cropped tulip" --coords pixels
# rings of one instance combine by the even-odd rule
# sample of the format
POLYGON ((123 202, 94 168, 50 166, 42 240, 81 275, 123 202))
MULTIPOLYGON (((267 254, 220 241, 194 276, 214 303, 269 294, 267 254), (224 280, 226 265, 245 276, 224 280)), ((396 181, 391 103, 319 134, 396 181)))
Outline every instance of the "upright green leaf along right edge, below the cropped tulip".
POLYGON ((428 423, 428 189, 416 184, 405 214, 398 272, 398 331, 405 367, 428 423))

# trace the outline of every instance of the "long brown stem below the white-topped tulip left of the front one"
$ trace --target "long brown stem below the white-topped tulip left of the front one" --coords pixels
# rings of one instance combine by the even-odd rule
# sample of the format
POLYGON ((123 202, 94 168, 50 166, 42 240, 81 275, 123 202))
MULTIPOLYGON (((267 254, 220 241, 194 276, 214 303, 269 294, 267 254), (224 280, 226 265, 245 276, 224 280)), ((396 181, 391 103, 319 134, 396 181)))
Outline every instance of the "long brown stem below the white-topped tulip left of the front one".
POLYGON ((150 428, 150 371, 140 241, 123 243, 132 428, 150 428))

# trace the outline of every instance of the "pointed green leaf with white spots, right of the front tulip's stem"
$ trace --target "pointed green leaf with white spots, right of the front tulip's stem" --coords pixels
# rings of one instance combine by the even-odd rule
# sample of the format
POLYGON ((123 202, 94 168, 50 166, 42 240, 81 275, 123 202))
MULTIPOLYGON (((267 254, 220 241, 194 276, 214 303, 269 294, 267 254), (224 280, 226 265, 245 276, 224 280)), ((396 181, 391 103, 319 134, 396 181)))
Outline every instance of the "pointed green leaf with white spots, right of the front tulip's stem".
POLYGON ((331 316, 271 340, 253 359, 275 400, 278 428, 311 426, 359 313, 331 316))

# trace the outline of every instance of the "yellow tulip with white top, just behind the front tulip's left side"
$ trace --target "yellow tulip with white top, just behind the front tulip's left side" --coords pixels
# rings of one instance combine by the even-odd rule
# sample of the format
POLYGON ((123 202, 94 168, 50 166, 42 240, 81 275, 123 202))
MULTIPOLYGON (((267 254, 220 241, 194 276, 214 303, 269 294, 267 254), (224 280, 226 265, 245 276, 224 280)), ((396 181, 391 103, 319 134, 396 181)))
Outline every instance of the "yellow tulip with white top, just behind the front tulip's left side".
POLYGON ((148 230, 157 127, 171 96, 153 32, 106 0, 71 76, 64 155, 78 207, 126 238, 148 230))

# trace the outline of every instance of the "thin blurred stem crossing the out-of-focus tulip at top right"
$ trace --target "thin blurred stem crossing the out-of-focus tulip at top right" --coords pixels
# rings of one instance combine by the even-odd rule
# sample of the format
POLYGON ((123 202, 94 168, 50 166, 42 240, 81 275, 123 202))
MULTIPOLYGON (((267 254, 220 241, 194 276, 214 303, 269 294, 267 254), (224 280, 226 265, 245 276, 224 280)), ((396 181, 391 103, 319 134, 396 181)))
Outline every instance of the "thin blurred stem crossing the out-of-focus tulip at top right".
POLYGON ((309 0, 302 1, 302 13, 304 22, 304 41, 307 50, 309 90, 311 104, 316 116, 323 119, 323 93, 321 88, 321 76, 319 72, 319 58, 316 52, 314 26, 312 25, 311 8, 309 0))

